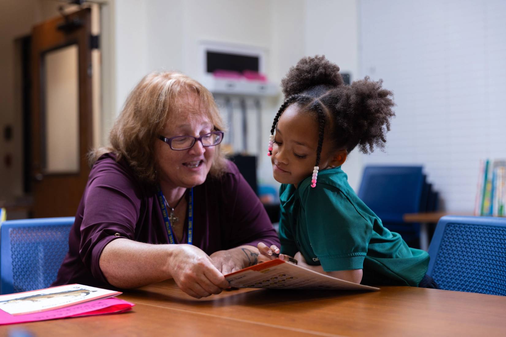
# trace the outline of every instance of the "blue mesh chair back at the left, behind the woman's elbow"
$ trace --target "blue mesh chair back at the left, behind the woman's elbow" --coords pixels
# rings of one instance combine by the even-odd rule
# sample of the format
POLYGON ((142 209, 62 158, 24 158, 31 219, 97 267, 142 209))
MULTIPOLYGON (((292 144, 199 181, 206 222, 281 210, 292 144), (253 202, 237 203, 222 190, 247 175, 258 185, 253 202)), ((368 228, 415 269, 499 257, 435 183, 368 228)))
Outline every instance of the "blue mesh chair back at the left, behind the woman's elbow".
POLYGON ((0 294, 47 288, 68 252, 74 217, 8 220, 0 225, 0 294))

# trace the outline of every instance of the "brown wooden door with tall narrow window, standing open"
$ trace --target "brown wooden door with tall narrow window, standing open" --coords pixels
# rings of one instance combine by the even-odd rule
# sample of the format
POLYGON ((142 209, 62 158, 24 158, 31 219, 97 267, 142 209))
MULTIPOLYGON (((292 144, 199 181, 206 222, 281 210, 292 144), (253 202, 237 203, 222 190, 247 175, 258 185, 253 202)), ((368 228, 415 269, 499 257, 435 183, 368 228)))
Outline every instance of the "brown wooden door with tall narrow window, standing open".
POLYGON ((31 41, 32 215, 74 216, 93 145, 91 10, 34 26, 31 41))

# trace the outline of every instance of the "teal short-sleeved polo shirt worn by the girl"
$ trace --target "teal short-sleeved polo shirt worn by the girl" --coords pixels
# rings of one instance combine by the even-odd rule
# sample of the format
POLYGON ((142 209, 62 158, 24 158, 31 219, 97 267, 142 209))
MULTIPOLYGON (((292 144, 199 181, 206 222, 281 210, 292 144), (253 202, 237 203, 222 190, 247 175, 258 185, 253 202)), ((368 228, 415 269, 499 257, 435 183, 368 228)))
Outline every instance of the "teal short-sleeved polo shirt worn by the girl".
POLYGON ((363 269, 362 284, 417 286, 429 266, 427 252, 409 248, 402 237, 357 197, 348 176, 336 167, 307 177, 299 188, 279 190, 281 253, 297 252, 324 271, 363 269))

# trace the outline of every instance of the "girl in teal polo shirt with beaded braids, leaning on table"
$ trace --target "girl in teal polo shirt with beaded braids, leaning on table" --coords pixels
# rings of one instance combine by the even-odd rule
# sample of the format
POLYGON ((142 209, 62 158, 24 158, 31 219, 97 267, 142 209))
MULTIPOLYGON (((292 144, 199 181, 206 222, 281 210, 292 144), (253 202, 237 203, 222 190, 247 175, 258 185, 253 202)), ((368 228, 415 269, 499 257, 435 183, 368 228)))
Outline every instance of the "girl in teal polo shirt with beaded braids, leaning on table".
POLYGON ((303 58, 281 82, 285 101, 269 139, 279 195, 281 249, 260 243, 259 261, 299 265, 356 283, 437 286, 429 255, 409 248, 357 197, 341 169, 358 146, 383 149, 394 102, 382 81, 344 85, 324 56, 303 58))

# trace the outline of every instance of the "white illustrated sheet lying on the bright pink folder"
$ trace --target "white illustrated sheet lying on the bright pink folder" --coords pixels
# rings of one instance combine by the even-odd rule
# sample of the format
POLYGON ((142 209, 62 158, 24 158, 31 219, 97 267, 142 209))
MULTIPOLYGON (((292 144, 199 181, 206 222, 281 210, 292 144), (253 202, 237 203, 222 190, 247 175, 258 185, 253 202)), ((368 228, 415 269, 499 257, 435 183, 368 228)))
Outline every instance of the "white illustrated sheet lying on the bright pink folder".
POLYGON ((64 308, 78 303, 105 299, 121 294, 82 284, 67 284, 31 292, 0 296, 0 310, 11 315, 64 308))

